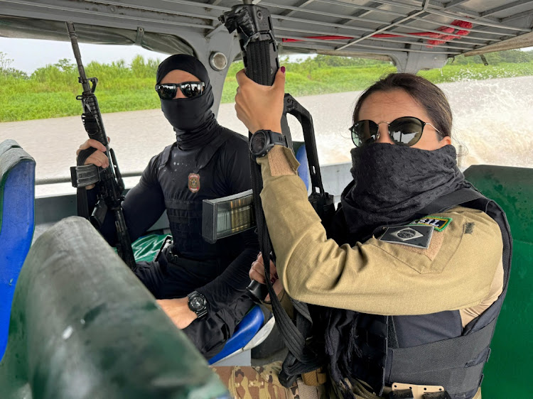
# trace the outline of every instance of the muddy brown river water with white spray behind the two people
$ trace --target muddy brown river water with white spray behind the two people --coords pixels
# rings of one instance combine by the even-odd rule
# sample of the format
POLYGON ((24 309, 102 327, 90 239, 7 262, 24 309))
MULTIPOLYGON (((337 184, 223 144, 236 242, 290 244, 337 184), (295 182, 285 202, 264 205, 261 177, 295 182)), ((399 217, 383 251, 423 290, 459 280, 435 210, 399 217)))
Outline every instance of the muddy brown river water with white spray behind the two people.
MULTIPOLYGON (((462 168, 494 164, 533 168, 533 77, 473 80, 439 84, 450 101, 456 146, 462 168)), ((321 165, 350 161, 351 112, 360 92, 298 97, 313 116, 321 165)), ((173 131, 161 110, 104 114, 104 125, 122 172, 144 169, 149 159, 173 142, 173 131)), ((247 134, 234 104, 222 104, 218 121, 247 134)), ((298 122, 289 117, 294 140, 302 140, 298 122)), ((16 140, 36 159, 38 180, 68 177, 75 150, 86 133, 79 116, 0 124, 0 141, 16 140)), ((136 178, 126 180, 134 185, 136 178)), ((74 192, 69 184, 39 185, 36 195, 74 192)))

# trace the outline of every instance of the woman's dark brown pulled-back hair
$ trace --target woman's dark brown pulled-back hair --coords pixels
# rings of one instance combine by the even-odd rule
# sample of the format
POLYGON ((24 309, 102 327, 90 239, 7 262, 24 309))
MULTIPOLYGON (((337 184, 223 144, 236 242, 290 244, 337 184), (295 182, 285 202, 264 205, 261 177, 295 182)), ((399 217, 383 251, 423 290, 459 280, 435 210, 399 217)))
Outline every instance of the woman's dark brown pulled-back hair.
MULTIPOLYGON (((441 134, 441 139, 451 136, 451 109, 448 99, 435 84, 411 73, 391 73, 372 84, 357 99, 353 111, 353 123, 359 121, 359 111, 362 103, 370 94, 375 92, 390 92, 395 89, 405 90, 413 99, 426 109, 426 112, 441 134)), ((409 116, 409 115, 406 115, 409 116)))

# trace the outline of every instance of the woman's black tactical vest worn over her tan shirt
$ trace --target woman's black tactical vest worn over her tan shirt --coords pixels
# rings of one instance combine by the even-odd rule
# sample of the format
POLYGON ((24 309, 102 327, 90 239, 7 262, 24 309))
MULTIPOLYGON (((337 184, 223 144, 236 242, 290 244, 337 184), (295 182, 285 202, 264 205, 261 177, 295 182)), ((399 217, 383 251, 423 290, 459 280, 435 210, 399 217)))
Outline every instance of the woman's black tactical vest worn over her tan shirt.
MULTIPOLYGON (((497 222, 503 240, 503 291, 482 315, 463 329, 458 311, 431 315, 380 316, 355 312, 350 378, 368 383, 382 395, 385 385, 412 383, 443 386, 451 398, 473 398, 483 380, 490 340, 507 293, 512 241, 505 213, 479 192, 464 188, 421 210, 422 216, 461 205, 479 209, 497 222)), ((343 388, 340 388, 343 390, 343 388)))

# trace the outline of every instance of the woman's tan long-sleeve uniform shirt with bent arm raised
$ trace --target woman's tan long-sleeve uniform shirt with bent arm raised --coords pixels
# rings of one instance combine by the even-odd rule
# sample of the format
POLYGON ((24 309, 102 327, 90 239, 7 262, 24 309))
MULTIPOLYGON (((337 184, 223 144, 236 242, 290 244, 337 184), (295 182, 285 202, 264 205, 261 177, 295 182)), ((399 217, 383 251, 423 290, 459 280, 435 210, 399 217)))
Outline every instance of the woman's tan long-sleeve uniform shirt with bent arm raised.
POLYGON ((376 315, 426 315, 461 310, 463 326, 500 295, 500 228, 487 214, 455 207, 429 248, 380 241, 338 246, 296 175, 298 162, 276 146, 257 160, 266 224, 284 289, 296 300, 376 315))

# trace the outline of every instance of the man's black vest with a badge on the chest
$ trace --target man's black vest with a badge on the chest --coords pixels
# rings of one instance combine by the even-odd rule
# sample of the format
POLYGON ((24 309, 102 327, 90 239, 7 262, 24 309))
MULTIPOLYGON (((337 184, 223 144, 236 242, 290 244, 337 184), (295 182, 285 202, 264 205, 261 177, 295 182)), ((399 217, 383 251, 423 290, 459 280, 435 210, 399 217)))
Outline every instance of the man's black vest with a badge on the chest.
POLYGON ((202 237, 202 202, 230 195, 226 182, 217 179, 217 168, 221 147, 231 136, 221 127, 205 146, 182 151, 173 143, 161 153, 157 176, 177 255, 197 260, 224 256, 220 242, 208 244, 202 237))

